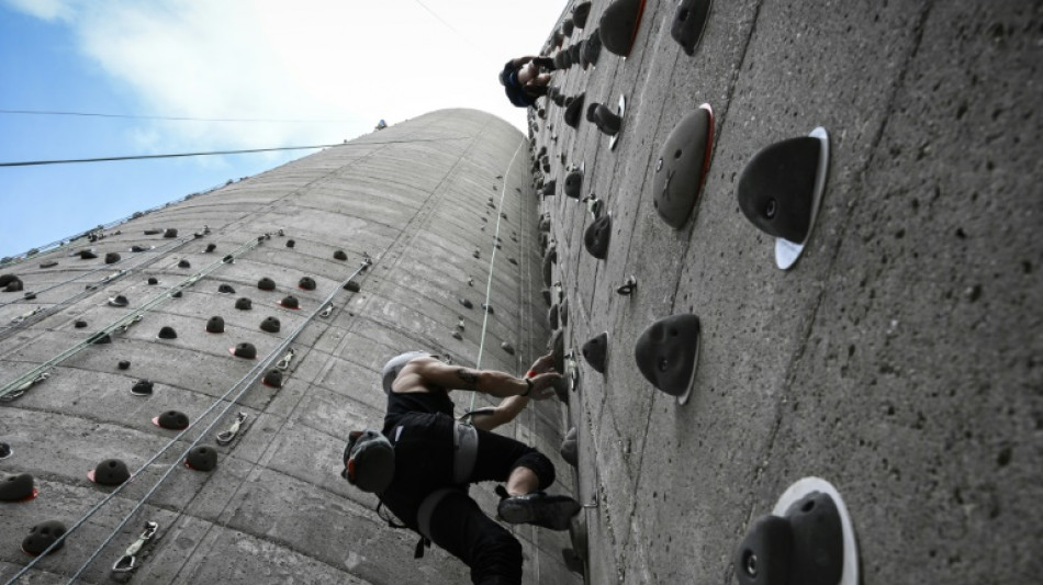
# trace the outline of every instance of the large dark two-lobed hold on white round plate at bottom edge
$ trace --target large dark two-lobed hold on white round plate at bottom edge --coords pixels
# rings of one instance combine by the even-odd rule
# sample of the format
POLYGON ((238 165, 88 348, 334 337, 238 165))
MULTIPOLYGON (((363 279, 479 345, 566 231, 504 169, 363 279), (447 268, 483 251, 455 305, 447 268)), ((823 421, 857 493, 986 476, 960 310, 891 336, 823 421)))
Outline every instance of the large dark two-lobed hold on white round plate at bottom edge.
POLYGON ((859 583, 851 516, 829 482, 790 485, 771 515, 754 520, 733 559, 740 585, 859 583))

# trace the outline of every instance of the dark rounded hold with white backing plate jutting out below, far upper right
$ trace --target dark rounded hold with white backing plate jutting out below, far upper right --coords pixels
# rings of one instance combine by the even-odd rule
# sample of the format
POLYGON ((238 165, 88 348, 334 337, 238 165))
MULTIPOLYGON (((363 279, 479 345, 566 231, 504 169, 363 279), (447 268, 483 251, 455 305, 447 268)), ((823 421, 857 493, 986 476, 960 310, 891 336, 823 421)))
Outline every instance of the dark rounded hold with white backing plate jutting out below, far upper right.
POLYGON ((829 135, 820 126, 808 136, 765 147, 739 176, 739 209, 759 229, 775 236, 775 263, 783 270, 804 251, 828 170, 829 135))

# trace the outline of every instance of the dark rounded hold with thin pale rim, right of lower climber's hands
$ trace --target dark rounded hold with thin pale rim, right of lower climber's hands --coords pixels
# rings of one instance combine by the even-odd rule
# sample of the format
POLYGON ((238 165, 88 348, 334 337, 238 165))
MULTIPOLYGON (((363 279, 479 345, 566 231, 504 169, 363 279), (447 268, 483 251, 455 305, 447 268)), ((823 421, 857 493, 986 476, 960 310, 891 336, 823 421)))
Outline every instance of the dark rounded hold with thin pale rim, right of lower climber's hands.
POLYGON ((688 402, 699 359, 699 318, 689 313, 663 317, 638 337, 633 348, 641 374, 657 389, 688 402))

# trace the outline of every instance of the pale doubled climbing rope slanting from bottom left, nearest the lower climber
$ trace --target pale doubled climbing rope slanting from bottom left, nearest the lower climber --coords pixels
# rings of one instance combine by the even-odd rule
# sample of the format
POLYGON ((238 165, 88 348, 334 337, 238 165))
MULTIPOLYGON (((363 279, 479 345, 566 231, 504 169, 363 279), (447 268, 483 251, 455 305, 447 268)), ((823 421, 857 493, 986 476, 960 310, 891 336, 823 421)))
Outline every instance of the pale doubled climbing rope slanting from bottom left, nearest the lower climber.
MULTIPOLYGON (((260 239, 257 239, 257 240, 255 240, 255 241, 256 241, 256 243, 259 243, 260 239)), ((96 504, 93 507, 91 507, 91 508, 90 508, 83 516, 81 516, 72 526, 70 526, 69 529, 66 530, 66 532, 65 532, 64 535, 61 535, 60 537, 58 537, 54 542, 51 543, 49 547, 47 547, 47 549, 45 549, 42 553, 40 553, 38 555, 36 555, 32 561, 30 561, 25 566, 23 566, 23 567, 22 567, 18 573, 15 573, 4 585, 11 585, 11 584, 14 583, 15 581, 18 581, 19 577, 21 577, 22 575, 24 575, 25 573, 27 573, 33 566, 35 566, 36 563, 40 562, 40 560, 46 558, 46 556, 51 553, 51 551, 53 551, 53 550, 55 550, 57 547, 59 547, 59 545, 61 544, 61 542, 64 542, 65 539, 69 537, 69 535, 71 535, 71 533, 72 533, 74 531, 76 531, 80 526, 82 526, 88 519, 90 519, 91 516, 93 516, 93 515, 94 515, 99 509, 101 509, 105 504, 108 504, 109 502, 111 502, 117 494, 120 494, 120 492, 123 491, 124 487, 126 487, 127 485, 130 485, 130 484, 134 481, 135 477, 137 477, 139 474, 142 474, 146 469, 148 469, 149 465, 152 465, 152 464, 155 463, 160 457, 162 457, 162 454, 166 453, 166 451, 167 451, 168 449, 170 449, 170 447, 172 447, 173 445, 176 445, 182 437, 184 437, 184 436, 186 436, 189 431, 191 431, 197 425, 199 425, 199 423, 202 421, 203 418, 206 417, 206 415, 209 415, 211 412, 213 412, 213 410, 217 407, 217 405, 220 405, 222 402, 226 402, 225 407, 213 418, 213 420, 210 423, 210 425, 208 425, 206 428, 204 428, 204 429, 202 430, 202 432, 199 434, 199 436, 195 438, 195 440, 193 440, 193 441, 181 452, 181 454, 178 455, 178 461, 184 460, 184 458, 188 457, 189 452, 190 452, 192 449, 194 449, 197 445, 199 445, 199 442, 203 439, 203 437, 205 437, 205 436, 208 436, 208 435, 210 434, 210 431, 217 425, 218 421, 221 421, 221 419, 225 416, 225 414, 227 414, 227 412, 239 401, 239 398, 243 397, 243 395, 246 393, 246 391, 250 389, 250 386, 254 384, 254 382, 256 382, 257 379, 260 378, 261 372, 263 372, 269 365, 271 365, 271 363, 273 363, 273 362, 276 361, 276 358, 278 358, 278 357, 280 357, 280 356, 283 356, 283 352, 289 349, 290 344, 292 344, 292 342, 296 339, 296 337, 301 334, 301 331, 304 330, 304 327, 307 326, 307 325, 315 318, 315 316, 318 315, 318 314, 322 312, 322 310, 323 310, 328 303, 330 303, 330 302, 333 301, 333 297, 337 294, 337 291, 339 291, 341 286, 344 286, 345 284, 347 284, 349 280, 354 279, 354 278, 355 278, 356 275, 358 275, 360 272, 363 272, 365 270, 367 270, 371 265, 372 265, 371 261, 369 261, 369 260, 363 260, 363 261, 362 261, 362 265, 361 265, 358 269, 356 269, 356 271, 352 272, 350 277, 348 277, 344 282, 341 282, 341 283, 340 283, 340 286, 335 288, 335 289, 333 290, 333 292, 329 293, 329 295, 326 296, 326 299, 325 299, 322 303, 319 303, 319 304, 316 306, 315 311, 313 311, 313 312, 311 313, 311 315, 309 315, 309 317, 307 317, 306 319, 304 319, 289 336, 287 336, 285 339, 283 339, 278 346, 276 346, 276 348, 272 349, 271 352, 269 352, 268 356, 265 357, 265 359, 258 361, 257 364, 254 365, 254 368, 251 368, 246 374, 244 374, 243 378, 240 378, 235 384, 233 384, 232 387, 229 387, 229 389, 227 390, 227 392, 225 392, 225 393, 222 394, 220 397, 217 397, 217 398, 213 402, 213 404, 211 404, 205 410, 203 410, 203 412, 195 418, 195 420, 194 420, 193 423, 191 423, 188 427, 186 427, 183 430, 181 430, 180 432, 178 432, 173 438, 171 438, 170 441, 167 442, 167 445, 165 445, 158 452, 156 452, 152 458, 149 458, 148 461, 146 461, 141 468, 137 469, 137 471, 135 471, 133 474, 131 474, 131 476, 130 476, 125 482, 123 482, 122 484, 120 484, 115 490, 113 490, 111 493, 109 493, 109 494, 108 494, 104 498, 102 498, 98 504, 96 504), (233 396, 233 397, 229 398, 229 396, 232 396, 232 393, 235 392, 236 389, 240 389, 240 390, 238 391, 238 393, 235 394, 235 396, 233 396)), ((169 465, 169 466, 168 466, 167 471, 164 472, 164 474, 159 476, 159 479, 158 479, 158 480, 156 481, 156 483, 148 490, 148 492, 146 492, 146 493, 141 497, 141 499, 138 499, 138 502, 134 505, 134 507, 131 508, 131 510, 123 517, 123 520, 120 521, 120 524, 117 524, 117 525, 115 526, 115 528, 112 529, 112 531, 109 533, 109 537, 105 538, 104 541, 102 541, 102 543, 99 544, 97 549, 94 549, 94 552, 90 555, 90 558, 88 558, 87 561, 85 561, 83 564, 80 565, 79 570, 77 570, 77 572, 69 578, 68 583, 74 583, 74 582, 80 576, 80 574, 82 574, 83 571, 87 570, 87 567, 88 567, 88 566, 98 558, 98 555, 101 553, 102 549, 104 549, 110 542, 112 542, 112 540, 120 533, 120 531, 123 529, 123 527, 126 526, 126 524, 131 520, 131 517, 134 516, 134 514, 137 513, 137 510, 141 509, 142 506, 145 505, 145 503, 148 500, 148 498, 152 497, 152 495, 160 487, 160 485, 162 485, 162 483, 167 480, 167 477, 170 476, 170 473, 173 472, 173 470, 177 469, 177 468, 179 468, 179 465, 169 465)))

